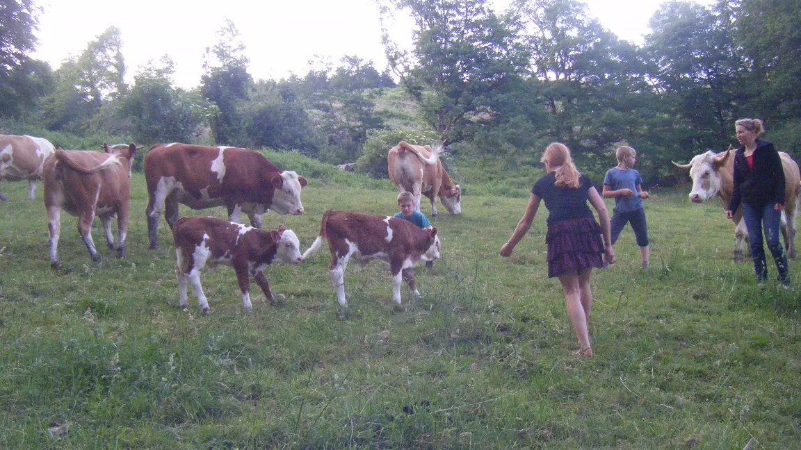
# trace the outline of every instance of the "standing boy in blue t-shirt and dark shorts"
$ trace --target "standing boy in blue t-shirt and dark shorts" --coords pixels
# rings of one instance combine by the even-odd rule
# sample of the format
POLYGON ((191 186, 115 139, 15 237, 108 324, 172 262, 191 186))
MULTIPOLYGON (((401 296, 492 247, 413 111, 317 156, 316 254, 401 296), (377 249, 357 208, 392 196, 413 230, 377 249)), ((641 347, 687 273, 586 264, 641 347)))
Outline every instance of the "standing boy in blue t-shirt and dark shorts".
POLYGON ((648 198, 648 192, 642 191, 642 178, 635 171, 637 151, 628 146, 618 147, 614 155, 618 165, 606 171, 603 180, 603 198, 614 198, 614 213, 610 223, 612 243, 618 240, 626 223, 631 223, 637 245, 640 247, 642 267, 649 267, 648 227, 646 226, 646 210, 642 207, 642 199, 648 198))

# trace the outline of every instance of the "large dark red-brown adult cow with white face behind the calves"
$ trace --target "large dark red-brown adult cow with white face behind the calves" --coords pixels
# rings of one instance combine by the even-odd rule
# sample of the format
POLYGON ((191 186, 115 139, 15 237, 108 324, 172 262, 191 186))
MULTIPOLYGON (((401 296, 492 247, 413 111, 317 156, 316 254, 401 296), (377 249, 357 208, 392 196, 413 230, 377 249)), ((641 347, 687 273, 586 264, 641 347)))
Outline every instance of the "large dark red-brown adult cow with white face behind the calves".
POLYGON ((300 189, 308 184, 293 171, 280 171, 264 155, 236 147, 155 144, 144 158, 147 181, 147 234, 150 247, 159 248, 159 215, 172 228, 179 203, 192 209, 224 206, 228 219, 241 222, 241 213, 254 227, 260 215, 304 213, 300 189))

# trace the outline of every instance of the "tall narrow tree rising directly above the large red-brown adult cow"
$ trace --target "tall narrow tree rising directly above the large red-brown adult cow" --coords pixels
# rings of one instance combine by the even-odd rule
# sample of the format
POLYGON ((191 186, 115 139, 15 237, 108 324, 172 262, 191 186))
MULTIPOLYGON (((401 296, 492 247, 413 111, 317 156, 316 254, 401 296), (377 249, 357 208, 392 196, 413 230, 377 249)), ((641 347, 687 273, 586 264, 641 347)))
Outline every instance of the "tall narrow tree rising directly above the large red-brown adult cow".
POLYGON ((247 124, 237 107, 248 98, 253 84, 248 74, 250 61, 244 55, 245 46, 234 22, 226 18, 217 36, 219 41, 207 49, 206 73, 200 78, 203 96, 219 108, 219 114, 211 120, 211 131, 217 143, 248 147, 247 124))

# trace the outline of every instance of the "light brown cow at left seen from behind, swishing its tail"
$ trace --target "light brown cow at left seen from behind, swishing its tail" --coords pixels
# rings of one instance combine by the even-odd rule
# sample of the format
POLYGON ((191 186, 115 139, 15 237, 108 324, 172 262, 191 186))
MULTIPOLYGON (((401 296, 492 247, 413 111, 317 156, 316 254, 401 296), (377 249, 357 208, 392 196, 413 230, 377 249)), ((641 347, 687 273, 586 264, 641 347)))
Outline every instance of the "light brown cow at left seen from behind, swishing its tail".
POLYGON ((61 230, 62 209, 78 217, 78 234, 95 261, 100 260, 92 241, 91 227, 95 215, 100 216, 106 231, 108 247, 125 257, 125 237, 128 231, 128 201, 131 197, 131 163, 136 146, 103 143, 103 151, 69 151, 58 149, 47 159, 42 171, 45 185, 45 207, 50 229, 50 264, 58 261, 58 235, 61 230), (117 218, 119 240, 111 235, 111 219, 117 218))

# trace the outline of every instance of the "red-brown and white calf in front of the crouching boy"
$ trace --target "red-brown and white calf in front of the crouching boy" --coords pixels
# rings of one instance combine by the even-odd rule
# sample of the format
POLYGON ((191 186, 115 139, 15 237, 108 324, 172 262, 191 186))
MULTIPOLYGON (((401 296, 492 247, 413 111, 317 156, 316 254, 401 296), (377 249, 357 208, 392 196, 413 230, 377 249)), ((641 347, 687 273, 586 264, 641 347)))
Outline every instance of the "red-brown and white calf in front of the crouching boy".
POLYGON ((328 266, 336 299, 347 307, 344 272, 348 259, 361 268, 373 259, 389 264, 392 271, 392 298, 400 304, 400 281, 406 283, 417 297, 420 292, 414 282, 414 265, 418 261, 433 261, 440 257, 440 238, 437 228, 418 228, 413 223, 392 216, 367 215, 348 211, 326 211, 320 235, 304 252, 303 258, 320 250, 328 239, 331 264, 328 266))

